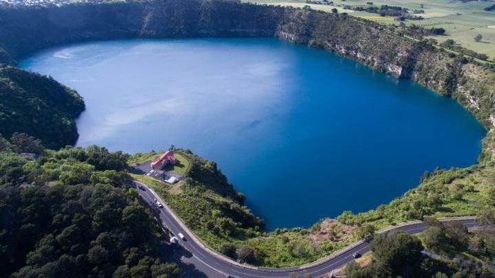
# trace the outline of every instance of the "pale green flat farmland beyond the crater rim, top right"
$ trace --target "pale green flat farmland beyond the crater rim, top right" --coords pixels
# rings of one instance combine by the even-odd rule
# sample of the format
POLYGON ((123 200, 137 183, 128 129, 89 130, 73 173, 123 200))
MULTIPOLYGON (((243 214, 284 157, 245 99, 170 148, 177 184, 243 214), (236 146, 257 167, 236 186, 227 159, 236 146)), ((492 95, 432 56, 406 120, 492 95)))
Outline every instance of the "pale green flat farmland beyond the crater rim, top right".
MULTIPOLYGON (((270 5, 292 5, 294 7, 303 7, 307 5, 305 0, 243 0, 252 3, 265 3, 270 5)), ((332 0, 329 0, 332 1, 332 0)), ((432 38, 443 42, 451 38, 459 45, 472 49, 478 53, 486 54, 490 60, 495 60, 495 11, 487 12, 483 8, 493 5, 492 1, 462 1, 452 0, 333 0, 334 5, 314 5, 311 8, 315 10, 324 10, 329 12, 332 8, 337 8, 339 12, 347 12, 351 16, 358 16, 363 19, 369 19, 382 24, 398 24, 390 16, 380 16, 370 12, 356 12, 353 10, 344 10, 343 5, 366 5, 366 2, 372 1, 373 5, 397 5, 410 10, 424 10, 425 19, 419 21, 404 21, 406 25, 416 24, 422 27, 442 27, 447 32, 445 36, 434 36, 432 38), (423 8, 421 8, 423 5, 423 8), (481 34, 483 40, 476 43, 474 36, 481 34)))

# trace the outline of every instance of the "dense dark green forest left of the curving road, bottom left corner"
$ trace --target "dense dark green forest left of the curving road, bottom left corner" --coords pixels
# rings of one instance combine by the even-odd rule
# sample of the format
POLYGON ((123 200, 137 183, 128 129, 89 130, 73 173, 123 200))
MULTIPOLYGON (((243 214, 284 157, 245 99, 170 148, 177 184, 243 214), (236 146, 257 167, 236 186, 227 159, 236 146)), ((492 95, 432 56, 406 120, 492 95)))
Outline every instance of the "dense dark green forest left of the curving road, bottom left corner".
MULTIPOLYGON (((0 140, 1 277, 175 277, 172 250, 121 152, 0 140), (37 152, 27 159, 17 153, 37 152)), ((22 139, 19 139, 22 138, 22 139)))

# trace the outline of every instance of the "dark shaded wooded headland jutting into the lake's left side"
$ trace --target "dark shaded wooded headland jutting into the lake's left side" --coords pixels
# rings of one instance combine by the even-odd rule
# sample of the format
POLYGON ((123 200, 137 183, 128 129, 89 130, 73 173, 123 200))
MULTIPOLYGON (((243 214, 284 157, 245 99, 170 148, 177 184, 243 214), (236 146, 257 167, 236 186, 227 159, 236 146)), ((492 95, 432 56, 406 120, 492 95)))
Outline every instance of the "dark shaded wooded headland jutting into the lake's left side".
POLYGON ((54 79, 0 65, 0 134, 5 137, 25 132, 48 148, 72 145, 78 138, 74 119, 84 109, 80 95, 54 79))

